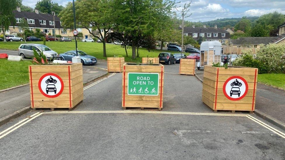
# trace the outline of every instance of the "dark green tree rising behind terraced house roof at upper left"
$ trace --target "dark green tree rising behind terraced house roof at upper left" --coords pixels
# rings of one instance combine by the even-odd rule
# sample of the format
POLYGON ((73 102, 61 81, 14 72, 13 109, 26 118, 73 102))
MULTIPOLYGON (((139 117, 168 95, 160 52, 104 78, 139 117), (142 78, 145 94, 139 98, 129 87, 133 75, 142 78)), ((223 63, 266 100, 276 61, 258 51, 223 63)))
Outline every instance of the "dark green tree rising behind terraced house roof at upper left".
POLYGON ((58 5, 58 3, 52 2, 51 0, 39 0, 35 6, 36 9, 41 13, 51 14, 52 11, 55 12, 56 15, 63 10, 63 6, 58 5))

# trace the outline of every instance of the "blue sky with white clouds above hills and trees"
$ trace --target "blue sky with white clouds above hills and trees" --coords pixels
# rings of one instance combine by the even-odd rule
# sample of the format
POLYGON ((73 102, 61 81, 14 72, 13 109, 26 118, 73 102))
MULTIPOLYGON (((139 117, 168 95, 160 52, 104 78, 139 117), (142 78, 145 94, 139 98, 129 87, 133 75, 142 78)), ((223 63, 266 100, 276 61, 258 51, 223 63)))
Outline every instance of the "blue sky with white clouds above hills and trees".
MULTIPOLYGON (((65 6, 71 0, 53 0, 65 6)), ((178 0, 177 0, 178 1, 178 0)), ((180 0, 181 6, 189 3, 187 0, 180 0)), ((34 8, 37 0, 23 0, 24 5, 34 8)), ((193 0, 186 20, 190 21, 210 21, 218 18, 232 18, 242 16, 260 16, 274 12, 285 14, 285 0, 193 0)))

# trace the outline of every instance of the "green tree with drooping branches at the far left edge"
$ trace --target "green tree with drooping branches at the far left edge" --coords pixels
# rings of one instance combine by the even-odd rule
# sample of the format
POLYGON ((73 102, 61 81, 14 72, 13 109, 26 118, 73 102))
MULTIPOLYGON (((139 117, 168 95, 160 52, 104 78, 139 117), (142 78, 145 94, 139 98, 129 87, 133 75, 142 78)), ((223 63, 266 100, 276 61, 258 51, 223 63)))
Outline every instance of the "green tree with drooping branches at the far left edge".
POLYGON ((4 43, 6 43, 5 31, 9 30, 9 26, 16 24, 13 10, 16 8, 16 0, 0 0, 0 27, 4 35, 4 43))

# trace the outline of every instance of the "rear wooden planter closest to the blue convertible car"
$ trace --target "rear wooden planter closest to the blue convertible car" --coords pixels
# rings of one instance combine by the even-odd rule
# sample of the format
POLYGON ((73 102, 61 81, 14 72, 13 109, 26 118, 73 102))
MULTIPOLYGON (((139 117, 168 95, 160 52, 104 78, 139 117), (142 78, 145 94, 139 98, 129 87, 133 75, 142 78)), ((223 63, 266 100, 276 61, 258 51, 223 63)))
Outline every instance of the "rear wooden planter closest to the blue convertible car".
POLYGON ((125 57, 108 57, 107 66, 108 72, 122 72, 125 57))

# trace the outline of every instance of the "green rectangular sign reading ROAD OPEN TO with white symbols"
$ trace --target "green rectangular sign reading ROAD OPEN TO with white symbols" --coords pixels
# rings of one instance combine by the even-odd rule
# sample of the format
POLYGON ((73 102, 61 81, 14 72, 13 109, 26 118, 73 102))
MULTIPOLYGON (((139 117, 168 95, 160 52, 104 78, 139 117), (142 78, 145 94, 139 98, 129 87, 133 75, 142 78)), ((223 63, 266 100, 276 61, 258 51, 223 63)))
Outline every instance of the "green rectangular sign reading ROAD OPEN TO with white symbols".
POLYGON ((158 73, 128 73, 128 95, 157 96, 158 73))

